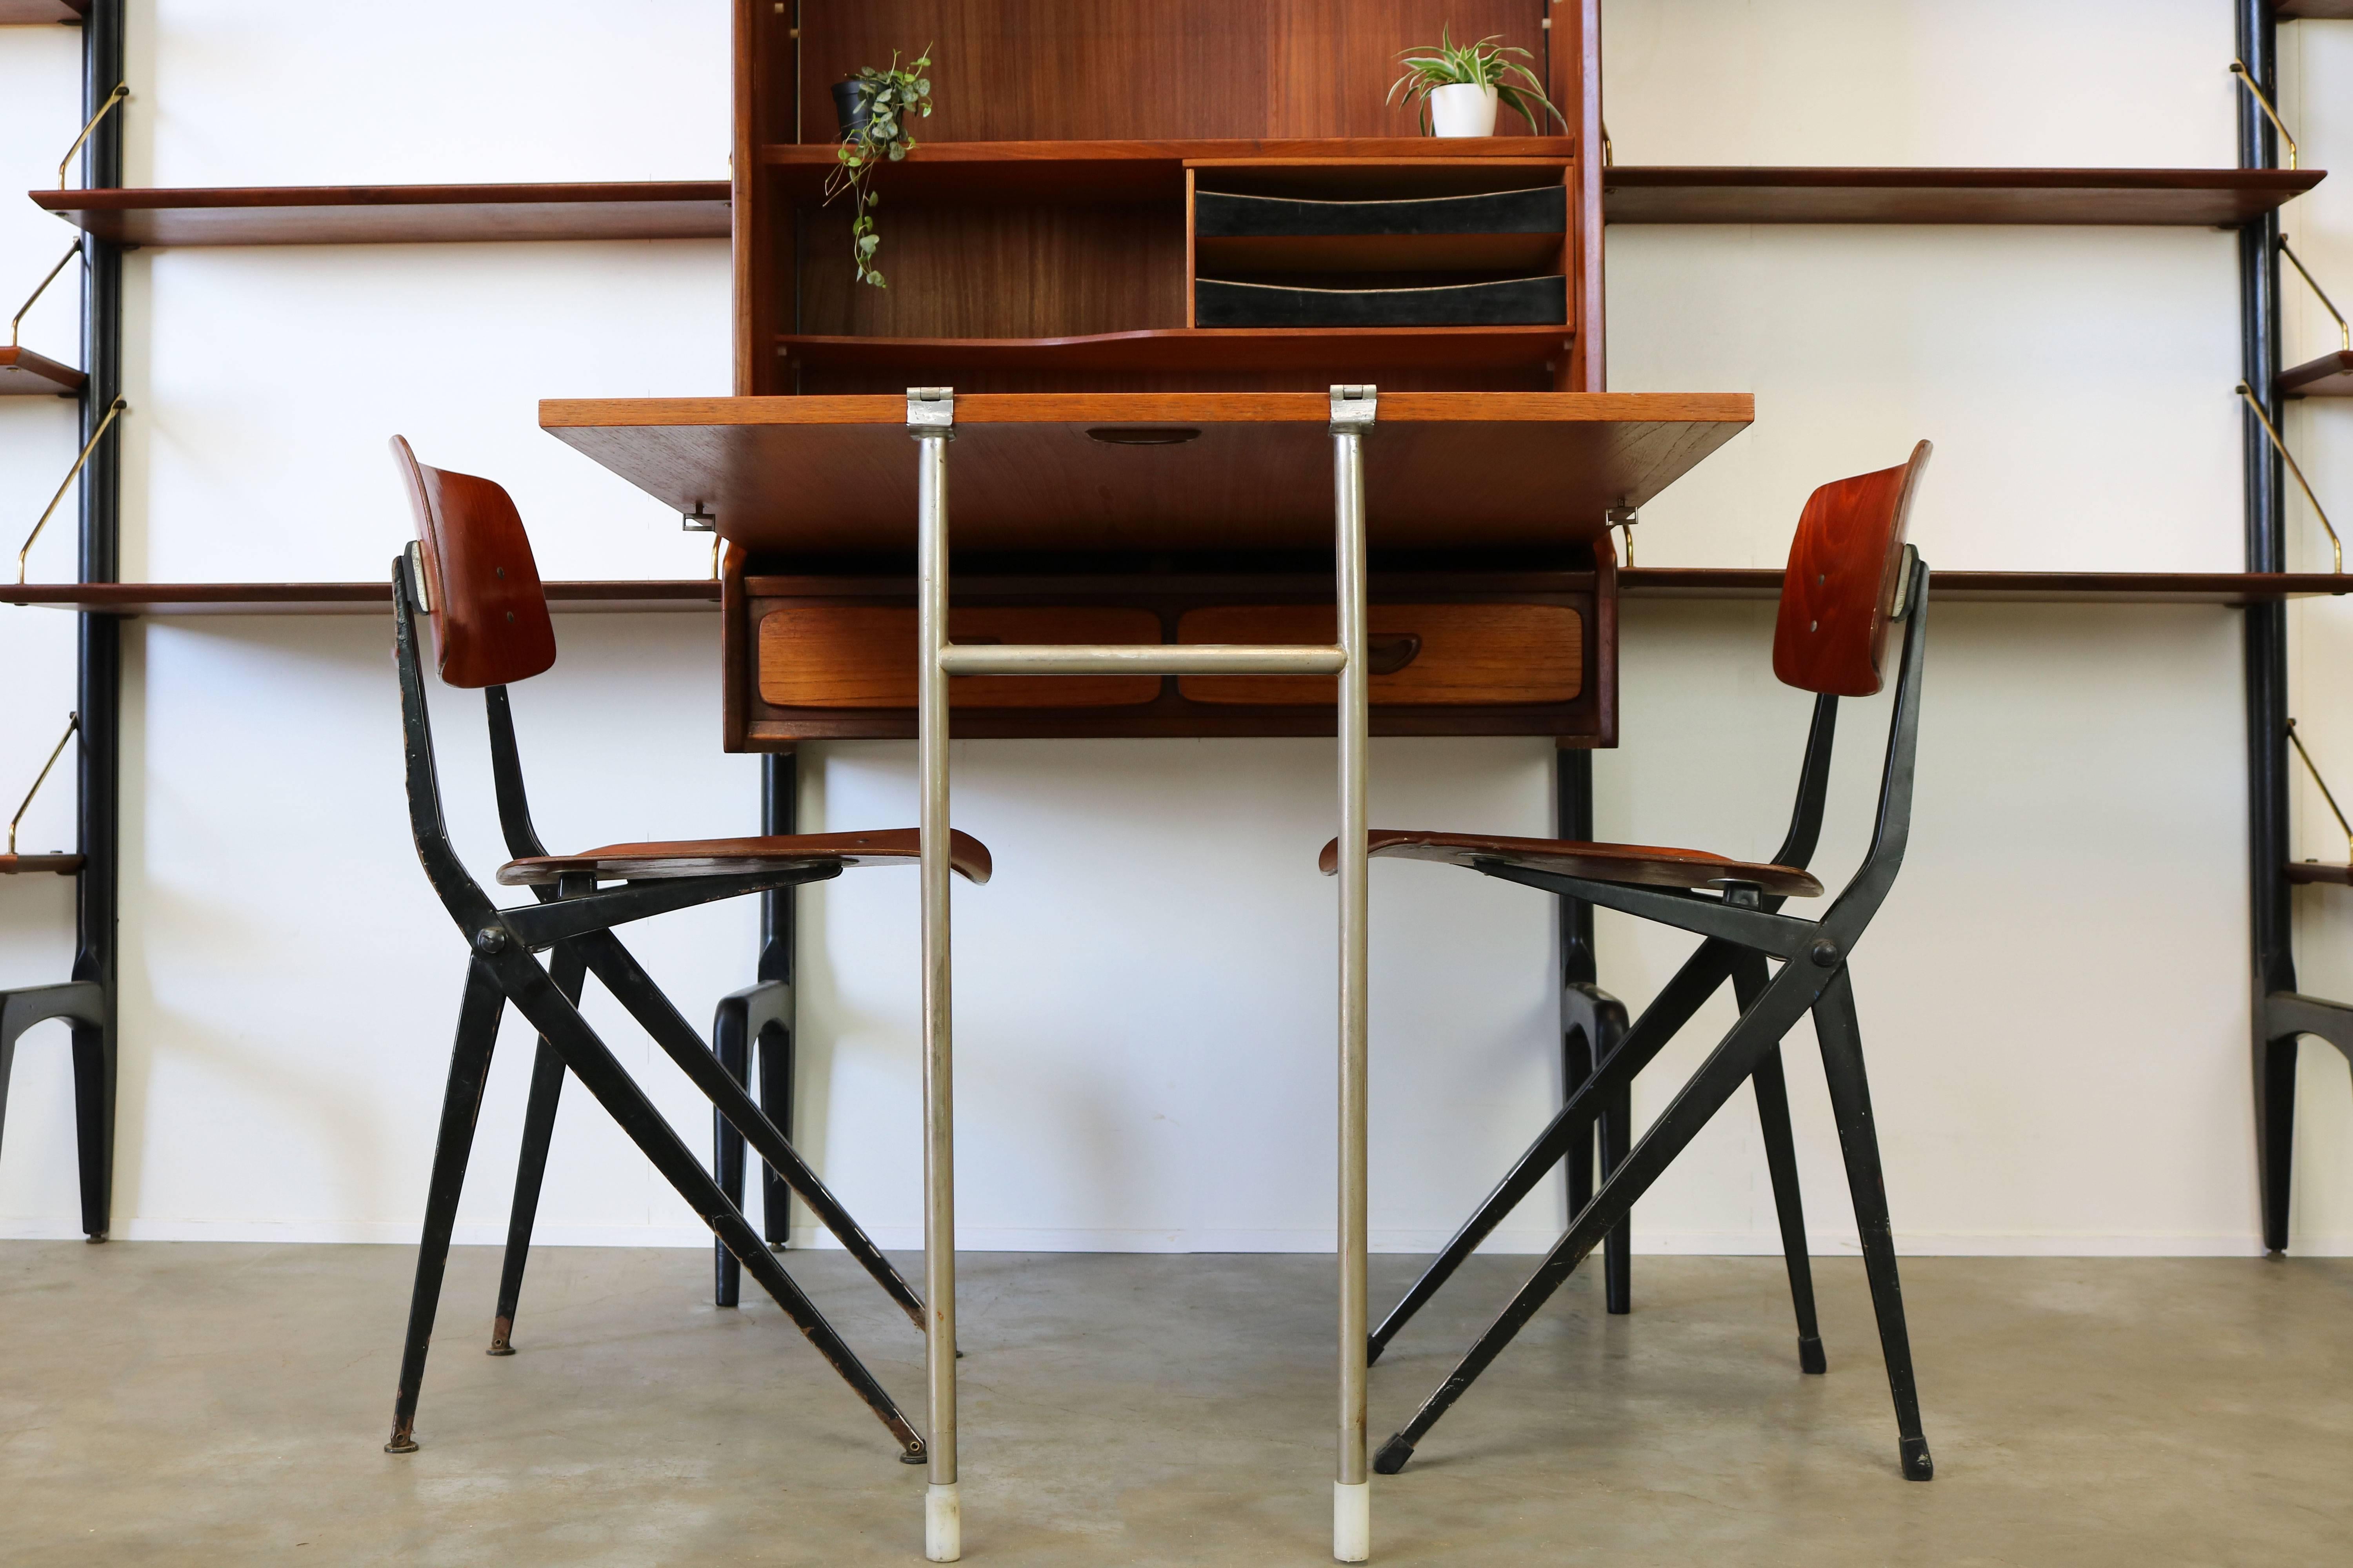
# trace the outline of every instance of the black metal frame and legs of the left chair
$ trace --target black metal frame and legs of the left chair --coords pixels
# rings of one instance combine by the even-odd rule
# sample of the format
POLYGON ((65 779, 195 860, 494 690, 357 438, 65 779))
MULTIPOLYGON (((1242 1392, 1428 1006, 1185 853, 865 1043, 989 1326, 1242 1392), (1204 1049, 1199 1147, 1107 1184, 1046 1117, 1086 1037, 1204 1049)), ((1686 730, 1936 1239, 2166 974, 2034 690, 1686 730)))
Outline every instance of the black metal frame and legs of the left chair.
MULTIPOLYGON (((696 1164, 661 1112, 645 1098, 612 1051, 579 1016, 579 992, 593 973, 647 1034, 678 1063, 678 1067, 701 1088, 715 1119, 736 1138, 748 1140, 769 1168, 809 1204, 812 1213, 840 1237, 842 1246, 866 1267, 889 1293, 908 1319, 925 1328, 922 1302, 899 1272, 882 1258, 880 1248, 833 1199, 814 1171, 793 1152, 793 1145, 776 1131, 774 1121, 753 1103, 744 1088, 741 1067, 725 1060, 694 1032, 671 999, 638 966, 628 950, 612 936, 612 929, 649 914, 791 889, 807 882, 826 882, 840 875, 840 865, 795 865, 762 872, 666 877, 647 882, 624 882, 616 889, 598 889, 593 875, 567 875, 553 891, 534 889, 539 903, 520 907, 496 907, 480 884, 466 872, 440 806, 440 780, 433 764, 433 726, 426 708, 424 663, 416 639, 416 599, 412 592, 412 557, 393 559, 393 637, 400 672, 400 719, 407 752, 409 827, 416 839, 416 858, 426 879, 440 896, 449 917, 466 936, 473 957, 466 971, 466 990, 459 1004, 456 1041, 449 1056, 449 1086, 442 1100, 440 1135, 433 1150, 433 1175, 426 1190, 424 1237, 416 1255, 416 1286, 409 1300, 409 1326, 400 1363, 400 1385, 393 1399, 393 1434, 386 1453, 414 1453, 416 1399, 424 1385, 426 1354, 433 1340, 433 1316, 440 1302, 442 1272, 449 1258, 449 1232, 456 1222, 459 1190, 466 1178, 466 1159, 473 1145, 475 1117, 482 1103, 482 1084, 489 1072, 492 1048, 499 1037, 499 1018, 508 1004, 515 1006, 539 1030, 539 1053, 532 1070, 532 1095, 525 1112, 522 1166, 515 1180, 515 1208, 508 1225, 506 1267, 499 1284, 499 1312, 494 1324, 492 1354, 508 1354, 515 1302, 522 1288, 522 1265, 529 1251, 532 1220, 539 1206, 539 1180, 546 1168, 548 1135, 555 1121, 555 1105, 562 1091, 562 1074, 569 1070, 591 1095, 628 1133, 631 1143, 654 1164, 687 1204, 711 1225, 732 1262, 748 1269, 755 1281, 784 1307, 786 1316, 816 1345, 819 1354, 849 1382, 878 1420, 899 1439, 899 1458, 908 1465, 925 1460, 922 1434, 901 1415, 899 1406, 866 1371, 849 1345, 816 1312, 800 1286, 793 1284, 784 1265, 765 1246, 744 1213, 722 1187, 696 1164), (548 952, 541 966, 534 957, 548 952)), ((506 686, 487 686, 492 776, 499 792, 499 818, 508 849, 518 856, 544 853, 529 823, 529 806, 522 795, 522 766, 515 748, 513 715, 506 686)), ((729 1018, 741 1018, 746 1044, 755 1016, 755 994, 739 992, 720 1004, 722 1034, 729 1018), (741 1006, 732 1006, 741 1004, 741 1006)), ((772 1027, 774 994, 758 1004, 762 1027, 772 1027)), ((741 1150, 741 1143, 736 1145, 741 1150)), ((720 1147, 725 1173, 727 1145, 720 1147)), ((741 1157, 739 1157, 741 1159, 741 1157)), ((781 1204, 772 1206, 772 1215, 781 1204)), ((772 1220, 774 1225, 776 1220, 772 1220)), ((720 1274, 725 1291, 727 1274, 720 1274)))

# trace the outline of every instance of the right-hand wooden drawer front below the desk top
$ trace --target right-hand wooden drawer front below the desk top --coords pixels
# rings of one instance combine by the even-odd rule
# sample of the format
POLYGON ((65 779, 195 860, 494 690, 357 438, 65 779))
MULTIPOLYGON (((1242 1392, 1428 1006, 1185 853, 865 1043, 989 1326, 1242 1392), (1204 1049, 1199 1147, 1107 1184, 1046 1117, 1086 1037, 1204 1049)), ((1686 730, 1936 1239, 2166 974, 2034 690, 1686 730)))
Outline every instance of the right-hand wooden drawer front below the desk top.
MULTIPOLYGON (((1367 618, 1374 708, 1574 703, 1586 686, 1586 618, 1565 604, 1374 604, 1367 618)), ((1329 604, 1221 604, 1176 623, 1176 642, 1334 639, 1329 604)), ((1176 689, 1193 703, 1304 708, 1329 705, 1337 677, 1188 675, 1176 689)))

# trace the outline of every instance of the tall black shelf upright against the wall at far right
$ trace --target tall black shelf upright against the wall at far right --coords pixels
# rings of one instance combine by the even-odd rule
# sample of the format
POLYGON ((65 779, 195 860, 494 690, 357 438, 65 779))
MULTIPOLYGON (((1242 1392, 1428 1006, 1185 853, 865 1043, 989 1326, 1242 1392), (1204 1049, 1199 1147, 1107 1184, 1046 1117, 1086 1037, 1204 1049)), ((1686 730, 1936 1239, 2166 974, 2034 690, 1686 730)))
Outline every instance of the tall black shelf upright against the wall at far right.
MULTIPOLYGON (((2238 56, 2278 103, 2278 24, 2271 0, 2238 2, 2238 56)), ((2238 94, 2238 162, 2268 169, 2278 134, 2247 92, 2238 94)), ((2240 374, 2273 423, 2280 421, 2280 216, 2266 212, 2238 230, 2240 374)), ((2247 571, 2282 571, 2287 473, 2252 411, 2240 414, 2247 473, 2247 571)), ((2247 607, 2247 914, 2252 936, 2252 1060, 2257 1147, 2264 1171, 2264 1246, 2287 1246, 2287 1138, 2268 1138, 2275 1112, 2294 1114, 2294 1041, 2266 1048, 2268 999, 2297 990, 2287 889, 2287 607, 2247 607)), ((2282 1128, 2285 1131, 2285 1128, 2282 1128)))

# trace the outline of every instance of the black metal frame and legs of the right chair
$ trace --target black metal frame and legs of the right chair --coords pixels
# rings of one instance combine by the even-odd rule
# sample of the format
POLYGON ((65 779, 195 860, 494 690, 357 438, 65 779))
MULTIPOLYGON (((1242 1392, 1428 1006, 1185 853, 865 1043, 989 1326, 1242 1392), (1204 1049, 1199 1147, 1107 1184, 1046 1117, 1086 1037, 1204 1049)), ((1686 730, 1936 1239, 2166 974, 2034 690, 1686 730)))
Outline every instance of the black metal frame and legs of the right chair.
MULTIPOLYGON (((1880 1347, 1887 1356, 1887 1387, 1894 1396, 1901 1474, 1913 1481, 1934 1476, 1927 1439, 1920 1429, 1920 1399, 1913 1382, 1911 1340, 1904 1328, 1904 1293, 1897 1279, 1894 1234, 1887 1220, 1887 1185, 1880 1173, 1880 1147, 1871 1119, 1871 1088, 1864 1074, 1861 1027, 1854 1013, 1854 985, 1847 976, 1847 957, 1861 940, 1887 891, 1894 886, 1911 837, 1913 759, 1920 733, 1920 672, 1927 656, 1927 564, 1906 545, 1906 571, 1899 578, 1901 611, 1894 616, 1904 625, 1904 654, 1894 691, 1894 712, 1887 724, 1887 764, 1880 778, 1878 820, 1871 849, 1861 867, 1838 893, 1819 922, 1781 912, 1781 900, 1762 898, 1755 884, 1727 886, 1722 896, 1697 891, 1671 891, 1633 886, 1619 882, 1593 882, 1560 872, 1482 860, 1478 870, 1504 882, 1518 882, 1562 898, 1579 898, 1605 910, 1619 910, 1652 919, 1706 938, 1682 969, 1666 983, 1659 997, 1642 1011, 1614 1048, 1600 1051, 1591 1072, 1574 1084, 1560 1114, 1529 1145, 1520 1164, 1480 1206, 1468 1225, 1449 1244, 1440 1262, 1424 1274, 1407 1293, 1405 1302, 1391 1312, 1388 1321, 1374 1331, 1379 1349, 1419 1309, 1435 1288, 1468 1255, 1478 1237, 1485 1237, 1518 1204, 1537 1180, 1572 1150, 1591 1147, 1593 1128, 1612 1107, 1624 1105, 1633 1077, 1671 1041, 1699 1006, 1715 990, 1732 980, 1741 1016, 1732 1030, 1708 1053, 1699 1072, 1682 1086, 1675 1100, 1659 1112, 1649 1131, 1621 1159, 1612 1161, 1600 1190, 1574 1204, 1567 1232, 1544 1258, 1529 1281, 1513 1295, 1511 1305, 1494 1319, 1485 1335, 1464 1354, 1447 1380, 1421 1403, 1414 1418, 1384 1443, 1374 1469, 1398 1474, 1414 1455, 1414 1446, 1428 1436, 1431 1427, 1461 1399, 1464 1389, 1501 1354, 1513 1335, 1537 1314, 1560 1288, 1569 1272, 1602 1239, 1626 1222, 1635 1199, 1673 1164, 1678 1154, 1699 1135, 1715 1112, 1732 1098, 1744 1079, 1758 1084, 1758 1107, 1767 1124, 1767 1150, 1777 1143, 1786 1152, 1788 1114, 1786 1091, 1779 1072, 1781 1039, 1807 1013, 1814 1016, 1814 1034, 1821 1044, 1824 1074, 1828 1077, 1831 1107, 1838 1119, 1838 1138, 1847 1164, 1847 1185, 1854 1197, 1854 1220, 1861 1232, 1864 1269, 1871 1279, 1871 1302, 1878 1316, 1880 1347), (1779 959, 1781 969, 1769 971, 1767 959, 1779 959), (1779 1133, 1772 1107, 1779 1105, 1779 1133)), ((1798 806, 1791 825, 1786 856, 1809 856, 1814 830, 1821 820, 1821 797, 1828 783, 1831 736, 1835 722, 1835 696, 1814 703, 1814 726, 1807 738, 1805 769, 1798 785, 1798 806)), ((1802 863, 1802 860, 1800 860, 1802 863)), ((1569 987, 1577 992, 1577 987, 1569 987)), ((1581 992, 1577 992, 1581 994, 1581 992)), ((1600 997, 1607 999, 1602 992, 1600 997)), ((1600 1006, 1595 1004, 1595 1011, 1600 1006)), ((1588 1039, 1600 1041, 1602 1025, 1588 1039)), ((1772 1157, 1772 1154, 1769 1154, 1772 1157)), ((1774 1159, 1779 1166, 1779 1159, 1774 1159)), ((1791 1258, 1791 1286, 1798 1298, 1800 1352, 1814 1338, 1812 1281, 1805 1269, 1805 1227, 1798 1218, 1795 1168, 1774 1168, 1774 1194, 1781 1208, 1784 1246, 1791 1258)), ((1572 1173, 1574 1182, 1574 1173, 1572 1173)))

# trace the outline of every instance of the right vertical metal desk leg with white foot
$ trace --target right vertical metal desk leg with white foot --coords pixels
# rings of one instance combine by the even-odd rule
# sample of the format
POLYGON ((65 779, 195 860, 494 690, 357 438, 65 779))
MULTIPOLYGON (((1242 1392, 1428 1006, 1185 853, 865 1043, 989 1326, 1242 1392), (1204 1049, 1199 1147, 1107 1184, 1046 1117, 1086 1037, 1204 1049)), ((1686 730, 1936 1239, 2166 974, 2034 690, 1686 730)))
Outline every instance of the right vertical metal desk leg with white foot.
POLYGON ((1339 1476, 1332 1486, 1332 1556, 1372 1556, 1365 1476, 1365 433, 1369 388, 1332 388, 1332 505, 1339 576, 1339 1476))

